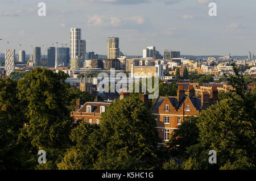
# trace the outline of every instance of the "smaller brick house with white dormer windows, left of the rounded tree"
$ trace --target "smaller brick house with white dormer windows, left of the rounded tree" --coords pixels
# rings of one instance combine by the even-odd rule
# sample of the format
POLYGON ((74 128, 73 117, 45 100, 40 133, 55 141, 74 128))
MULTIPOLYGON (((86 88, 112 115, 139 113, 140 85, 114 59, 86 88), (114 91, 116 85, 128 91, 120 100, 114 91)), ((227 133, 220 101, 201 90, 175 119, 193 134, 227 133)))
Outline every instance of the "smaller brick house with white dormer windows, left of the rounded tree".
POLYGON ((105 112, 109 102, 86 102, 82 103, 81 98, 76 101, 75 111, 71 112, 71 117, 76 123, 77 120, 84 120, 90 124, 100 124, 101 113, 105 112))

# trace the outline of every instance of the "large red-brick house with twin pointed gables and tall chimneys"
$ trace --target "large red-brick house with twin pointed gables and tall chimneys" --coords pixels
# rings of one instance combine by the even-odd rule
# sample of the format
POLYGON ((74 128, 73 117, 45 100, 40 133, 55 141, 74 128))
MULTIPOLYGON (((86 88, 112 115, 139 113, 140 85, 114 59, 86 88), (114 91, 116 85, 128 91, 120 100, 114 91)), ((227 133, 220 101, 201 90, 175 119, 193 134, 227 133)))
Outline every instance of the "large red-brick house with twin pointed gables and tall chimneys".
POLYGON ((212 87, 210 94, 203 92, 200 98, 195 97, 195 89, 192 85, 188 90, 184 86, 178 86, 177 96, 159 96, 151 108, 152 114, 157 121, 159 137, 164 145, 170 140, 170 135, 174 129, 181 124, 185 116, 198 115, 201 110, 205 110, 218 100, 217 87, 212 87))

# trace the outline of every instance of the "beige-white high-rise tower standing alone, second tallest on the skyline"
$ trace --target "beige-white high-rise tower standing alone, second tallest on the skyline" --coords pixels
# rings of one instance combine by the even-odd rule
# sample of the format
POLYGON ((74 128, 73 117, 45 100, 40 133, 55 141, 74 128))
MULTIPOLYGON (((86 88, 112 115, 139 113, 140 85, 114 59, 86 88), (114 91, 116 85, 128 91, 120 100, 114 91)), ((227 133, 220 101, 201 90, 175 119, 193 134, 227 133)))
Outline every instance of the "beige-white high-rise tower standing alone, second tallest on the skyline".
POLYGON ((108 38, 108 59, 117 59, 119 57, 119 38, 108 38))

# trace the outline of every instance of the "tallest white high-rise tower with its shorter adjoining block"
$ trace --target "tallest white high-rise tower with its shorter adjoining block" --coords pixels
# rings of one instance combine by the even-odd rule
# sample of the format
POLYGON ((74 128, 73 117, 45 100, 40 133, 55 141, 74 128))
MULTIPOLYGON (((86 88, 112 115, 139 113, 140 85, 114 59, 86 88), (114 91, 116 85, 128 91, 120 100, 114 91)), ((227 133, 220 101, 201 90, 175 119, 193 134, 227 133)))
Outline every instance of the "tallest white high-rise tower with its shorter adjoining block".
POLYGON ((85 60, 86 41, 81 39, 81 28, 71 28, 70 32, 70 58, 85 60))

